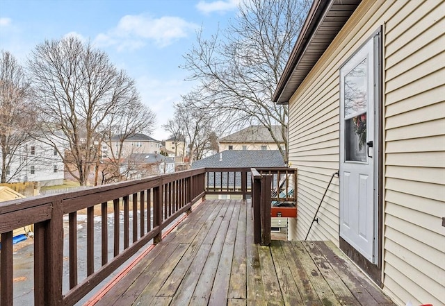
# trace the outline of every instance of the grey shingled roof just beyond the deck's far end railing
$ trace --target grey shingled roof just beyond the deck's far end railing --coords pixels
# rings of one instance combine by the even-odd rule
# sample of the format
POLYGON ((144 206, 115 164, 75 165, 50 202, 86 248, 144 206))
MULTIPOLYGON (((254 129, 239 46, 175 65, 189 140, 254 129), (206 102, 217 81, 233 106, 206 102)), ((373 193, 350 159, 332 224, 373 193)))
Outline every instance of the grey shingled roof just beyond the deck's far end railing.
POLYGON ((285 167, 283 157, 277 150, 227 150, 193 162, 192 169, 205 167, 285 167))

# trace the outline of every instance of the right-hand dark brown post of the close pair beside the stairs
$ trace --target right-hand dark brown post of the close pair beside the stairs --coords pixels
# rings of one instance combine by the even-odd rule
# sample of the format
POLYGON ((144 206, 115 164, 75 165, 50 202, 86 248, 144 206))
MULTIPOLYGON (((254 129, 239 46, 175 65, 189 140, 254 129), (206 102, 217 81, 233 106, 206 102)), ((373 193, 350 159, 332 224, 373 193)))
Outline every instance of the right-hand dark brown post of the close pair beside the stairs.
POLYGON ((272 175, 263 174, 261 176, 261 245, 270 244, 270 209, 271 209, 271 187, 272 175))

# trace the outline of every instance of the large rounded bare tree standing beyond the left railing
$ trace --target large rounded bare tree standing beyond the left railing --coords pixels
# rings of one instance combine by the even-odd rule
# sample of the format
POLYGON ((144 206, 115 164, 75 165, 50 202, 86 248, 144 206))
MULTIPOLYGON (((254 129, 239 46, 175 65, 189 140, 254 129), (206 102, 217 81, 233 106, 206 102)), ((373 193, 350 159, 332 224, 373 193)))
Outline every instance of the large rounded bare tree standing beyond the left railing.
POLYGON ((36 46, 29 71, 42 112, 42 130, 51 136, 45 141, 66 139, 65 169, 86 185, 104 131, 115 123, 113 116, 140 99, 134 80, 116 69, 106 53, 75 37, 36 46))

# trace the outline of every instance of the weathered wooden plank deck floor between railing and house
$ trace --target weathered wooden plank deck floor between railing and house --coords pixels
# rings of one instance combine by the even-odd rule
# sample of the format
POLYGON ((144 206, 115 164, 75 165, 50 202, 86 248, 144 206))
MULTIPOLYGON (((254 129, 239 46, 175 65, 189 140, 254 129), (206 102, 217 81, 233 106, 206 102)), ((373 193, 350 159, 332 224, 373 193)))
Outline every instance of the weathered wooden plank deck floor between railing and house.
POLYGON ((250 202, 204 201, 96 305, 394 305, 330 242, 252 241, 250 202))

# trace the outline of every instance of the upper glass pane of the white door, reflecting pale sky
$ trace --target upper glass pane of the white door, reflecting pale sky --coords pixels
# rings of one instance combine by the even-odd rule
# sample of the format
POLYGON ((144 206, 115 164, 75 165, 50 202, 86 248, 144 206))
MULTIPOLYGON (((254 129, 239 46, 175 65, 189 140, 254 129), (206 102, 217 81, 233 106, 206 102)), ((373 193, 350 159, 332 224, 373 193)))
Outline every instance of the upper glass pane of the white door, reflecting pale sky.
POLYGON ((344 79, 345 96, 345 118, 356 112, 366 110, 368 94, 366 88, 366 79, 368 75, 368 65, 365 58, 354 69, 346 74, 344 79))

